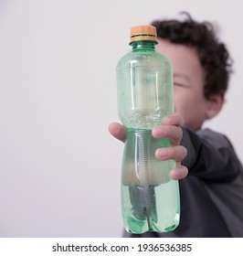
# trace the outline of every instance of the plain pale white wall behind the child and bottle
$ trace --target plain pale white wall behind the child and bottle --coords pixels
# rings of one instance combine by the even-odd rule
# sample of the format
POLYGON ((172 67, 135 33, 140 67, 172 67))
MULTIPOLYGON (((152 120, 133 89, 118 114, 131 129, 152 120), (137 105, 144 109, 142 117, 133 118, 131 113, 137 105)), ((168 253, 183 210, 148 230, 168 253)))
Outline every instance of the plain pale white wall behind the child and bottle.
POLYGON ((121 237, 115 66, 129 30, 188 11, 217 24, 235 60, 206 126, 243 160, 239 0, 0 0, 0 237, 121 237))

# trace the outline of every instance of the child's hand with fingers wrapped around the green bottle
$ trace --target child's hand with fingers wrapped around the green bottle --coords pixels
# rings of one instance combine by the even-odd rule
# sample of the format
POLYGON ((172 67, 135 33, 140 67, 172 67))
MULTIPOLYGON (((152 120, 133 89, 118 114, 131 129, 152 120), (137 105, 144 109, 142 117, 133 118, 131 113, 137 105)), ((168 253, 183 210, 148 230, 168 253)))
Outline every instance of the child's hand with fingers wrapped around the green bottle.
MULTIPOLYGON (((159 148, 155 152, 156 158, 159 160, 174 159, 176 168, 171 171, 171 176, 174 179, 185 178, 188 174, 188 169, 181 165, 181 161, 185 158, 187 150, 180 145, 183 136, 182 126, 184 119, 178 114, 170 115, 163 120, 163 126, 153 128, 152 134, 156 139, 167 137, 170 139, 172 146, 168 148, 159 148)), ((125 131, 121 123, 111 123, 109 131, 116 139, 124 142, 125 131)))

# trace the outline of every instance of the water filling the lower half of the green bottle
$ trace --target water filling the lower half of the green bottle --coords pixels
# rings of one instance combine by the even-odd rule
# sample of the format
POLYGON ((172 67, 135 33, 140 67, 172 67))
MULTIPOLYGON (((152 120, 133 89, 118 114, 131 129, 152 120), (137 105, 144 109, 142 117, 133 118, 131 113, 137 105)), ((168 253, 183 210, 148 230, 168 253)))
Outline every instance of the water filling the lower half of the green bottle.
POLYGON ((179 224, 178 184, 170 177, 174 161, 160 161, 154 156, 157 148, 166 146, 169 141, 154 139, 151 130, 127 130, 122 163, 122 217, 129 232, 164 232, 179 224))

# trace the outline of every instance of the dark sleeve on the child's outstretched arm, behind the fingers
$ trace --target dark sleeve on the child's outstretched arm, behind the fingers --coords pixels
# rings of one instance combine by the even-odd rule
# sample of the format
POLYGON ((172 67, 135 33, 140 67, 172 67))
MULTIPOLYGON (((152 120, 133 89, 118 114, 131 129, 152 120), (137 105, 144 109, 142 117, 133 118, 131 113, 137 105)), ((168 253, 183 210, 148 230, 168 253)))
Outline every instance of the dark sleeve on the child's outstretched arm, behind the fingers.
POLYGON ((182 145, 187 156, 182 165, 189 175, 214 182, 230 182, 242 169, 235 150, 227 137, 209 129, 192 132, 183 128, 182 145))

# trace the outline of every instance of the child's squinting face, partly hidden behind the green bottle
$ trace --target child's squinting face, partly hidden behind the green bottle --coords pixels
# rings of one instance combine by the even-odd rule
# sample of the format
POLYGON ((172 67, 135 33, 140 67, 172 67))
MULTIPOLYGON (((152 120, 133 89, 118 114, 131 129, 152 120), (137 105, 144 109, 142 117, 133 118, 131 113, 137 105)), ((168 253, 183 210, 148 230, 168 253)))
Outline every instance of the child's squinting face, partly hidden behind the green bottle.
POLYGON ((158 39, 156 49, 174 68, 174 112, 185 118, 185 126, 196 131, 210 115, 210 101, 204 96, 204 70, 195 48, 158 39))

